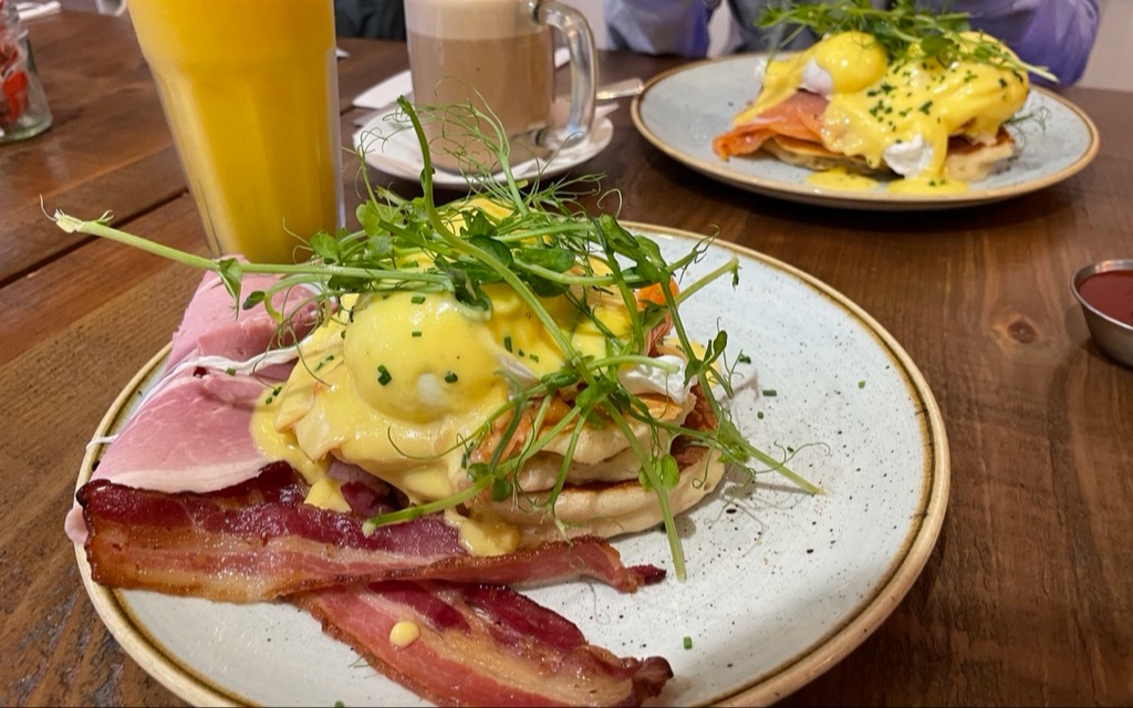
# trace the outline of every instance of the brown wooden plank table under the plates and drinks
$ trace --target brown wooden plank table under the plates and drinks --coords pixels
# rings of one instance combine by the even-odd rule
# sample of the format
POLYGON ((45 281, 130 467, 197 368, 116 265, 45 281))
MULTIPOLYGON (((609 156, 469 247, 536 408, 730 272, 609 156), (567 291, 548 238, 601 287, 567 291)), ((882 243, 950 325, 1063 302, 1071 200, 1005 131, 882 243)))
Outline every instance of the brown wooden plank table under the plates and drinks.
MULTIPOLYGON (((103 628, 61 527, 84 443, 169 340, 198 274, 68 237, 42 208, 111 210, 198 253, 203 230, 128 22, 63 12, 31 37, 54 127, 0 147, 0 703, 178 703, 103 628)), ((349 136, 351 97, 407 59, 399 43, 341 46, 349 136)), ((607 53, 602 71, 648 78, 674 63, 607 53)), ((1092 347, 1068 289, 1081 264, 1133 257, 1133 94, 1065 94, 1100 129, 1093 164, 977 208, 910 216, 739 191, 651 148, 624 106, 586 165, 621 190, 624 219, 717 225, 845 293, 904 346, 943 410, 952 495, 927 568, 860 648, 784 705, 1133 702, 1133 369, 1092 347)))

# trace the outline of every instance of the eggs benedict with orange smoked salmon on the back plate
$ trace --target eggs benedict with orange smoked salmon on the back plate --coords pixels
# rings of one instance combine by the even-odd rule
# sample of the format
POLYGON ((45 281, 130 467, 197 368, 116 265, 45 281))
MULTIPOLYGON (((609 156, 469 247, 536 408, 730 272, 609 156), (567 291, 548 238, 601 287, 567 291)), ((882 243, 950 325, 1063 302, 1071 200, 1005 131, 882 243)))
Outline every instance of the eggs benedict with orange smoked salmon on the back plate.
POLYGON ((898 56, 868 32, 846 31, 761 59, 755 101, 713 150, 725 160, 765 152, 816 171, 889 176, 896 190, 963 189, 1014 155, 1004 125, 1030 82, 986 34, 947 41, 959 49, 928 54, 920 43, 898 56))

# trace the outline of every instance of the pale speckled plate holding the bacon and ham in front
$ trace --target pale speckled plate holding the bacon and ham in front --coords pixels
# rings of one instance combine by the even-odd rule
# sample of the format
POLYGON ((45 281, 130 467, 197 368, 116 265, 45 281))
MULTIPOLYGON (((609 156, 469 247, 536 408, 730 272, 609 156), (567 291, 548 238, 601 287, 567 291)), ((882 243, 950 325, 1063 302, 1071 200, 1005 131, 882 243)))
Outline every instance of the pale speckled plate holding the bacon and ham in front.
MULTIPOLYGON (((692 234, 639 224, 666 255, 692 234)), ((620 655, 661 655, 675 677, 658 705, 769 703, 860 645, 917 579, 948 497, 948 446, 936 401, 893 338, 845 297, 760 254, 719 244, 693 273, 739 258, 740 284, 713 283, 683 307, 697 339, 729 333, 757 376, 738 399, 741 429, 826 489, 796 492, 774 474, 726 478, 680 520, 684 582, 636 595, 569 583, 529 591, 620 655), (774 391, 774 395, 772 395, 774 391), (690 649, 683 647, 691 639, 690 649)), ((160 368, 122 391, 97 435, 117 429, 160 368)), ((101 450, 92 446, 86 481, 101 450)), ((627 564, 668 566, 661 531, 617 540, 627 564)), ((110 631, 146 671, 196 705, 423 705, 289 605, 224 605, 94 585, 110 631)))

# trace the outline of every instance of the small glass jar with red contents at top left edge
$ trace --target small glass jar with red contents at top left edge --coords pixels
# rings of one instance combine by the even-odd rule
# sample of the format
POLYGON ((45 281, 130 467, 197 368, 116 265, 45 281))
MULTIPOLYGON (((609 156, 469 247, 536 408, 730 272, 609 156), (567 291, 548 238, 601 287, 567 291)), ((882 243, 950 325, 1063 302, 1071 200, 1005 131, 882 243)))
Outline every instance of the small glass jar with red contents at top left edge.
POLYGON ((0 0, 0 145, 50 127, 51 110, 16 0, 0 0))

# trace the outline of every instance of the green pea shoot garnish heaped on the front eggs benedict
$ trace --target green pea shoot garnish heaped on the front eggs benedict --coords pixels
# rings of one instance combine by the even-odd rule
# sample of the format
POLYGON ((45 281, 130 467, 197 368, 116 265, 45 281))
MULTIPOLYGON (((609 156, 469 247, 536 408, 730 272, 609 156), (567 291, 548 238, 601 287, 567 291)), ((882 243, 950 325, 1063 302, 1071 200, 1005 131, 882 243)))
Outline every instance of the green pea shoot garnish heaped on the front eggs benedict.
MULTIPOLYGON (((308 242, 310 258, 303 263, 279 265, 246 263, 232 257, 204 258, 114 229, 109 225, 109 215, 83 221, 57 212, 54 220, 68 232, 109 238, 212 271, 241 307, 266 307, 283 329, 290 323, 284 314, 272 309, 272 296, 299 287, 309 289, 309 297, 318 305, 317 312, 324 322, 337 318, 335 322, 343 326, 353 321, 352 304, 367 297, 408 292, 411 302, 420 305, 429 295, 444 293, 451 296, 468 317, 489 318, 494 306, 491 292, 506 288, 514 293, 545 327, 557 349, 561 366, 534 381, 520 381, 513 374, 501 373, 511 381, 510 398, 477 429, 468 430, 460 443, 465 446, 469 486, 445 498, 375 517, 367 521, 366 529, 458 509, 480 495, 493 501, 522 496, 526 503, 554 517, 555 500, 565 484, 574 445, 587 426, 612 426, 624 434, 640 462, 642 487, 657 496, 678 578, 684 577, 684 558, 668 505, 668 491, 676 486, 681 476, 670 450, 674 438, 702 447, 707 454, 751 476, 777 471, 807 493, 819 492, 792 472, 785 466, 786 460, 753 446, 733 423, 724 402, 734 393, 732 367, 725 353, 727 333, 719 331, 701 346, 693 342, 680 316, 681 302, 708 283, 725 276, 731 276, 733 284, 738 282, 736 258, 692 282, 682 283, 687 268, 704 255, 710 239, 695 244, 685 255, 670 262, 656 242, 628 231, 615 215, 591 215, 579 205, 578 197, 582 193, 577 190, 595 189, 596 177, 547 186, 537 179, 520 184, 511 171, 508 142, 491 116, 470 105, 433 109, 414 106, 404 99, 399 104, 402 125, 406 129, 411 126, 421 146, 423 196, 407 199, 375 187, 363 169, 367 198, 357 210, 360 229, 315 234, 308 242), (440 116, 465 126, 492 155, 491 165, 468 159, 472 199, 446 205, 438 205, 434 199, 429 150, 421 126, 423 120, 435 120, 440 116), (488 133, 483 131, 484 125, 491 127, 488 133), (488 179, 493 170, 501 171, 503 179, 488 179), (485 208, 485 203, 499 208, 485 208), (245 273, 272 273, 280 278, 267 290, 242 293, 245 273), (682 283, 679 291, 676 283, 682 283), (640 297, 642 292, 650 297, 640 297), (590 293, 602 293, 624 305, 630 321, 628 332, 615 334, 611 331, 595 310, 590 293), (561 329, 547 302, 563 299, 577 308, 587 326, 602 333, 603 356, 583 356, 571 334, 561 329), (715 428, 699 429, 655 416, 619 377, 627 365, 662 369, 666 374, 680 373, 671 362, 650 356, 654 341, 649 335, 665 323, 671 323, 672 346, 687 358, 684 384, 696 385, 699 395, 704 396, 717 420, 715 428), (569 401, 570 408, 553 418, 550 408, 556 399, 569 401), (534 421, 530 434, 517 437, 525 416, 534 421), (634 432, 642 424, 648 430, 645 438, 634 432), (480 444, 488 435, 499 435, 500 440, 484 452, 480 444), (533 503, 522 489, 520 471, 552 442, 564 437, 566 453, 557 484, 546 498, 533 503), (517 444, 511 444, 513 441, 517 444), (483 457, 474 453, 483 453, 483 457)), ((418 334, 417 330, 410 331, 410 336, 418 334)), ((502 343, 509 352, 513 347, 519 351, 511 336, 505 335, 502 343)), ((299 351, 301 353, 301 346, 299 351)), ((750 361, 743 355, 739 358, 750 361)), ((530 361, 537 359, 536 356, 528 358, 530 361)), ((301 362, 310 372, 315 370, 315 364, 301 362)), ((394 381, 395 374, 380 364, 373 376, 385 386, 394 381)), ((443 374, 443 381, 452 386, 462 385, 451 370, 443 374)), ((560 529, 565 530, 561 523, 560 529)))

